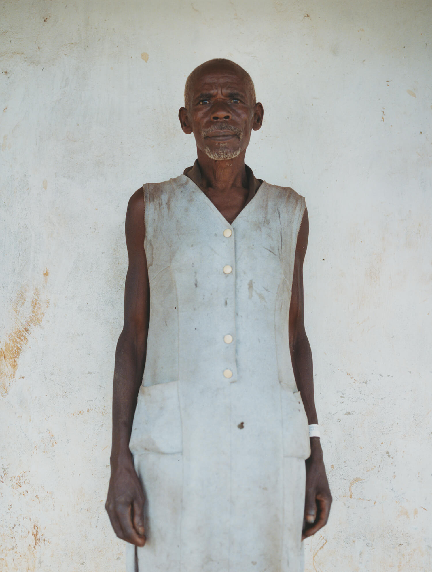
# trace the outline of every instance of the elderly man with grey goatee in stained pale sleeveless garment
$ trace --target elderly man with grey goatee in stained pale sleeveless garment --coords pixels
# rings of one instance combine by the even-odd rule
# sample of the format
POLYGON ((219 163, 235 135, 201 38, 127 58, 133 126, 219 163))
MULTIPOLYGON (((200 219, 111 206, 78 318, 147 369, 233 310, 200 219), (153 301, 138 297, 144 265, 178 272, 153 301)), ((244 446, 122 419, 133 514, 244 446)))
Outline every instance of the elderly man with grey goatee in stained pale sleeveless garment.
POLYGON ((179 119, 195 164, 126 213, 106 509, 130 572, 298 572, 331 505, 304 198, 245 165, 263 106, 236 63, 193 70, 179 119))

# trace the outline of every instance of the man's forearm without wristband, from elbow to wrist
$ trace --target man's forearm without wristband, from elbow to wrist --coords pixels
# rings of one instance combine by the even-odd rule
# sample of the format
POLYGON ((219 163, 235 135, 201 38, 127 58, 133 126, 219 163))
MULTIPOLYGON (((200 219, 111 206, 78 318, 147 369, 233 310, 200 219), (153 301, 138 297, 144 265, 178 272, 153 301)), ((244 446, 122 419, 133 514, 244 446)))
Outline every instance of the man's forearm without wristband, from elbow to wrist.
POLYGON ((123 331, 116 349, 113 382, 111 463, 129 454, 129 439, 145 364, 145 340, 123 331))

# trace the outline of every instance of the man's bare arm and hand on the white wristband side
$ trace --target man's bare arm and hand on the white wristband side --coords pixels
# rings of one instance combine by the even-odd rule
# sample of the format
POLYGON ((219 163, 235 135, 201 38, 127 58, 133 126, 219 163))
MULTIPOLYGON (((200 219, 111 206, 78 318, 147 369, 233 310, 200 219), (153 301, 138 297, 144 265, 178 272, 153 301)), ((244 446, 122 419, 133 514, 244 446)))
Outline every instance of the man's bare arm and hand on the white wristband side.
MULTIPOLYGON (((304 211, 294 262, 290 305, 290 351, 298 390, 302 394, 309 424, 318 423, 314 400, 312 352, 304 329, 303 261, 309 235, 307 209, 304 211)), ((304 503, 303 538, 310 537, 327 523, 332 498, 328 487, 323 452, 318 437, 311 438, 311 456, 306 460, 306 499, 304 503)))

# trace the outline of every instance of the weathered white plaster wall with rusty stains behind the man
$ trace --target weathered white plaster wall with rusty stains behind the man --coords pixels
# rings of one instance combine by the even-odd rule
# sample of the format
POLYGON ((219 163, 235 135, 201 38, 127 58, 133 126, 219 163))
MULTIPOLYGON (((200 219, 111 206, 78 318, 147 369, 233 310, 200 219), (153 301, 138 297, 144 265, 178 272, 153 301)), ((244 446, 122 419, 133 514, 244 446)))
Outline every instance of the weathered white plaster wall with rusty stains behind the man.
POLYGON ((184 81, 228 57, 265 110, 248 164, 310 213, 334 505, 306 570, 430 572, 431 25, 427 0, 2 2, 2 571, 124 570, 104 501, 126 204, 192 165, 184 81))

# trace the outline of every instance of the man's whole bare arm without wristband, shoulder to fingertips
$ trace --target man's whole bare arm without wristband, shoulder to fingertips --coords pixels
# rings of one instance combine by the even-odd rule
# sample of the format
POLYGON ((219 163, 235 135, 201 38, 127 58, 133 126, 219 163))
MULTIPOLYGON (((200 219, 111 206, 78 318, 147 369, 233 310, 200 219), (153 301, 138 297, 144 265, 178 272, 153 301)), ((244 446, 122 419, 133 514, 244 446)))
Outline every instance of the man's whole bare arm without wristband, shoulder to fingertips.
POLYGON ((149 279, 144 252, 144 194, 130 197, 126 212, 129 267, 125 283, 125 318, 117 341, 113 382, 111 478, 105 508, 117 536, 144 546, 144 492, 129 451, 137 395, 144 372, 149 324, 149 279))

